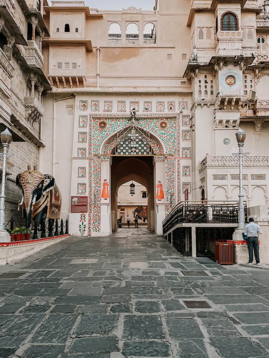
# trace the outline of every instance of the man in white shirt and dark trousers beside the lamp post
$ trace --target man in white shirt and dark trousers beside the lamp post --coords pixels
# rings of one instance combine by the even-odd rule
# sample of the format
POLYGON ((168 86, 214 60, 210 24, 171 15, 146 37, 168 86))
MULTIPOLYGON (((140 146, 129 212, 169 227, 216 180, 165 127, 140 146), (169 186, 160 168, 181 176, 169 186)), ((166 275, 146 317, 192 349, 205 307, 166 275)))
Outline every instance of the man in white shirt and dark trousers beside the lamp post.
POLYGON ((249 250, 249 262, 247 263, 247 265, 252 265, 254 249, 256 265, 260 266, 258 233, 262 233, 261 228, 259 227, 259 225, 254 223, 253 218, 249 218, 249 224, 245 226, 244 231, 244 235, 247 236, 247 249, 249 250))

